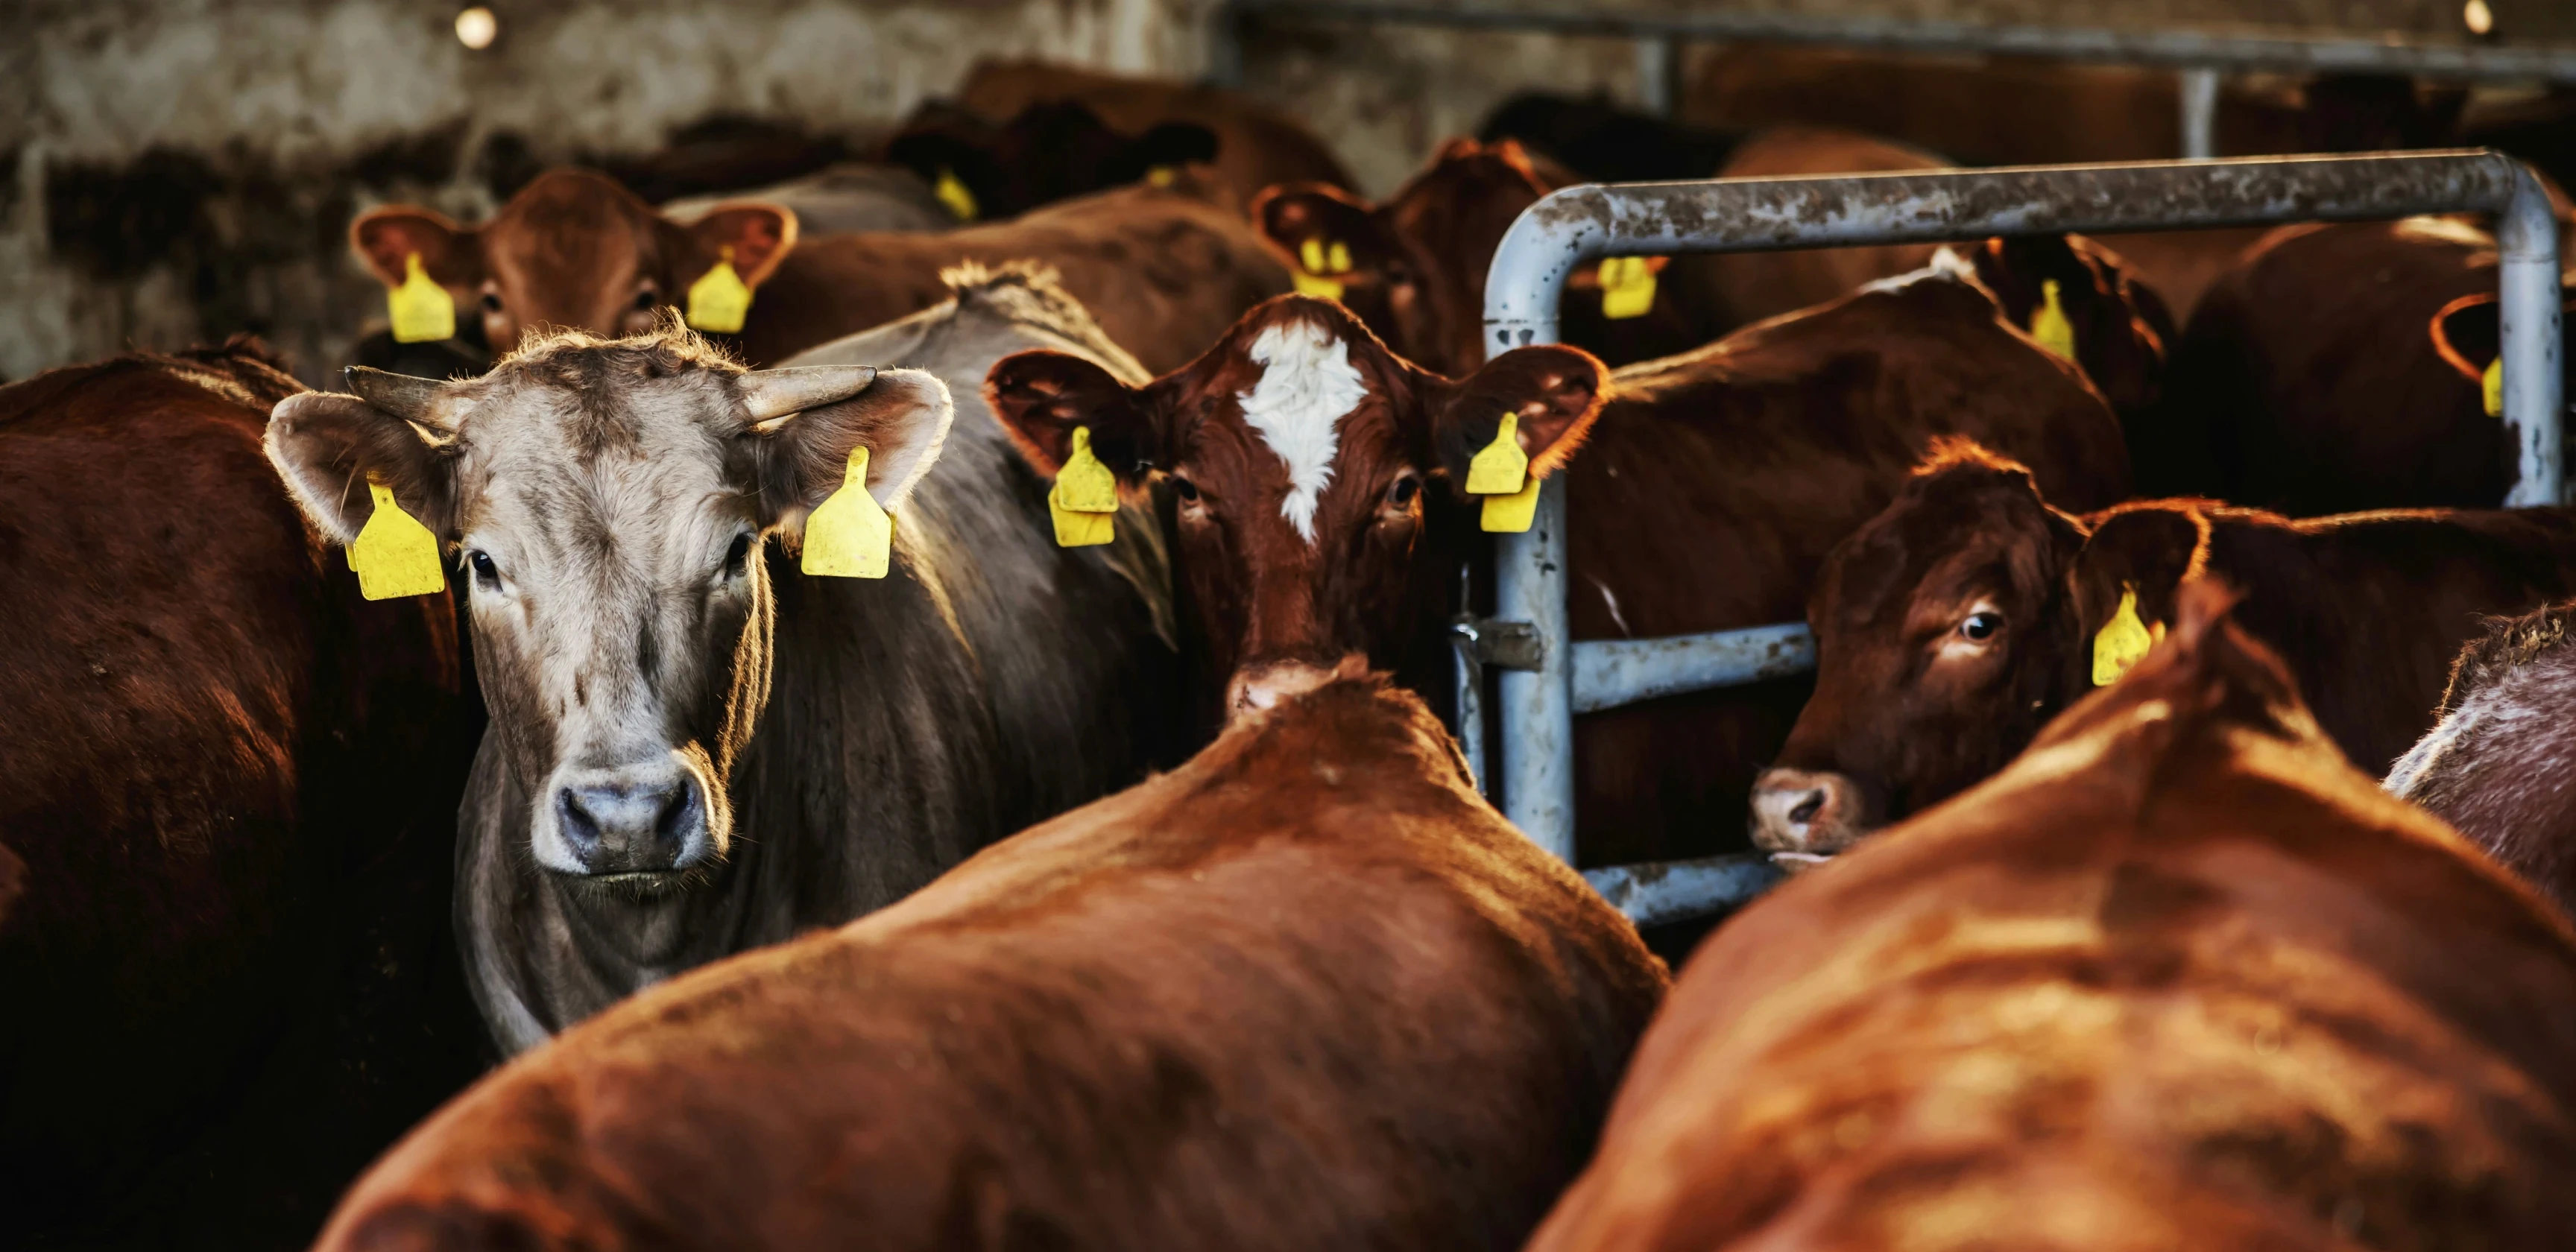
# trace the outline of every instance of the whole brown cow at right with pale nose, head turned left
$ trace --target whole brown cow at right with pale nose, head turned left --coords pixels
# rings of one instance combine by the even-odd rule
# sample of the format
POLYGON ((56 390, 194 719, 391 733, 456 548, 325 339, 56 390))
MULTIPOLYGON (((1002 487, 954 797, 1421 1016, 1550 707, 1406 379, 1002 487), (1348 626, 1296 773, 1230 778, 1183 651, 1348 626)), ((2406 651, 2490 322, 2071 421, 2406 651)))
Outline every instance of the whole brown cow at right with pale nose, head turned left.
POLYGON ((2105 678, 2102 634, 2172 621, 2187 574, 2244 587, 2326 734, 2383 773, 2432 724, 2481 616, 2576 593, 2576 513, 2290 520, 2213 500, 2050 507, 2020 464, 1950 443, 1824 562, 1816 696, 1754 786, 1754 842, 1839 853, 2002 768, 2105 678))

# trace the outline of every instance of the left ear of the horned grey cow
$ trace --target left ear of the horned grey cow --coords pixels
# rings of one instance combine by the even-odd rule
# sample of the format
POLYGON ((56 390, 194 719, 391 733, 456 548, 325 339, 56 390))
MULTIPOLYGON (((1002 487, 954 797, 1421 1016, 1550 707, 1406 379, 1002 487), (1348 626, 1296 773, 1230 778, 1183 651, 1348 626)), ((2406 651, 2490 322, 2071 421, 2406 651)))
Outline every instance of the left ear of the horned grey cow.
MULTIPOLYGON (((407 381, 435 386, 425 379, 407 381)), ((304 392, 268 412, 260 446, 286 482, 286 495, 332 544, 358 538, 376 513, 376 500, 366 489, 371 482, 394 492, 394 502, 440 541, 456 533, 448 441, 435 428, 415 425, 358 397, 304 392)))

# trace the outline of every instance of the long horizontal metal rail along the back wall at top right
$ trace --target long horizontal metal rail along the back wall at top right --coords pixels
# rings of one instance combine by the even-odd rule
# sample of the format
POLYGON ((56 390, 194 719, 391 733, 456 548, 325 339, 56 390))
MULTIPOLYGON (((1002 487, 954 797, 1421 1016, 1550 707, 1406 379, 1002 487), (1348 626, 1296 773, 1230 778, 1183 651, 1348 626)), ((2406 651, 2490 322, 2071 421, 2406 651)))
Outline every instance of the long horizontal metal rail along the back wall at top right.
POLYGON ((2228 72, 2367 72, 2463 82, 2576 82, 2571 44, 2465 44, 2370 36, 2293 36, 2236 31, 2120 31, 2087 26, 1978 26, 1811 13, 1620 13, 1589 5, 1430 5, 1376 0, 1234 0, 1236 10, 1280 21, 1386 21, 1471 31, 1548 31, 1577 36, 1674 36, 1765 44, 1832 44, 1924 54, 2056 57, 2069 62, 2172 64, 2228 72))

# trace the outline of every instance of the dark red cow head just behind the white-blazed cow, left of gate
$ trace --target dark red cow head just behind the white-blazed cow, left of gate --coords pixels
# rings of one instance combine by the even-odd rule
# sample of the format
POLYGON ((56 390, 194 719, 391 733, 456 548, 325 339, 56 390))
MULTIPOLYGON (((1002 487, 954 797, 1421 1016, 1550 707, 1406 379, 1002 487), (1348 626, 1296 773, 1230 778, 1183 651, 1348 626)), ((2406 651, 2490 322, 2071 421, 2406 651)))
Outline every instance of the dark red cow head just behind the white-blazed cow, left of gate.
POLYGON ((1252 201, 1252 222, 1291 270, 1311 273, 1309 245, 1334 258, 1319 278, 1342 283, 1342 304, 1396 356, 1466 374, 1484 361, 1484 270, 1512 219, 1546 193, 1520 144, 1450 139, 1386 204, 1288 183, 1252 201))

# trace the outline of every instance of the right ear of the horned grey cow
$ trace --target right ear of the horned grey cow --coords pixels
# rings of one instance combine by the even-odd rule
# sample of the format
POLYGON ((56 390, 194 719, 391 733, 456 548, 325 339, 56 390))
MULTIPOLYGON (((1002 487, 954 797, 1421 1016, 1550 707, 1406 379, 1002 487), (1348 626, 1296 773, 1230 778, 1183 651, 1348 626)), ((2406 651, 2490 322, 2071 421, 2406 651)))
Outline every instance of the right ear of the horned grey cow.
POLYGON ((868 448, 868 495, 889 513, 899 507, 938 464, 956 417, 948 384, 917 368, 762 368, 739 389, 760 464, 760 520, 788 533, 804 533, 806 515, 848 482, 855 448, 868 448))

